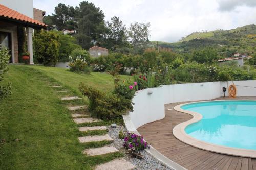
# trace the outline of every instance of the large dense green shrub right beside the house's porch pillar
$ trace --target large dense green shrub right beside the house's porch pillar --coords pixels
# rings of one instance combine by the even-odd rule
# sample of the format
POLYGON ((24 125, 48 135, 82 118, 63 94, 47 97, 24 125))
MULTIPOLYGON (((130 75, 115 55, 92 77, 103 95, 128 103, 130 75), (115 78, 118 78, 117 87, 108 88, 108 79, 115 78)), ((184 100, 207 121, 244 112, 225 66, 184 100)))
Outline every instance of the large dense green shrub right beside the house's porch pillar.
POLYGON ((35 32, 33 43, 35 61, 54 67, 59 56, 60 36, 55 31, 41 30, 35 32))

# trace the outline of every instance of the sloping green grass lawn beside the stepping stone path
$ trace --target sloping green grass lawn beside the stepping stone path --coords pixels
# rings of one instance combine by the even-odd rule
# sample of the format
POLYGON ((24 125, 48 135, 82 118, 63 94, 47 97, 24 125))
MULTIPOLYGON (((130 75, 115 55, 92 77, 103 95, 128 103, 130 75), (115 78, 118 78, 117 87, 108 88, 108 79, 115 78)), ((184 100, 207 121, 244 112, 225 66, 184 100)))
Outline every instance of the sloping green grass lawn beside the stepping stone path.
POLYGON ((74 74, 42 66, 9 65, 9 68, 5 82, 12 83, 13 94, 0 101, 0 169, 91 169, 95 164, 122 156, 121 153, 96 157, 82 154, 85 148, 106 143, 80 144, 77 140, 80 132, 66 108, 67 103, 61 102, 59 94, 39 80, 55 79, 75 93, 80 82, 108 91, 113 89, 110 75, 74 74))

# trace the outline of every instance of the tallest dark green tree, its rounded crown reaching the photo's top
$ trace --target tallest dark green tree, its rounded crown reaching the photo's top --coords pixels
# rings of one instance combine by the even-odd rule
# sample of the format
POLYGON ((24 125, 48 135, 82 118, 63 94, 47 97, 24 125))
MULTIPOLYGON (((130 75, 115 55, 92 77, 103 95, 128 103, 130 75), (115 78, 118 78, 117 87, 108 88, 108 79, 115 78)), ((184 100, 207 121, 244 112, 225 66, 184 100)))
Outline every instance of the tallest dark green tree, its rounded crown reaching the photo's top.
POLYGON ((78 20, 77 40, 82 48, 90 48, 94 43, 100 44, 106 27, 104 23, 104 14, 100 8, 95 7, 88 1, 80 2, 76 8, 78 20))

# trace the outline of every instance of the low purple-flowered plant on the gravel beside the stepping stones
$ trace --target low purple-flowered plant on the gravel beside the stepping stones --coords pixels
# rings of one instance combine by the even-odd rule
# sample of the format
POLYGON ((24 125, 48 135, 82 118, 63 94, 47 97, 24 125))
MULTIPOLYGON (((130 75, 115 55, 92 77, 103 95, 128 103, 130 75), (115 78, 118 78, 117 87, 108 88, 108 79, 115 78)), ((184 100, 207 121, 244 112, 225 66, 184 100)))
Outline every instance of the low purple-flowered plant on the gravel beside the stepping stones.
POLYGON ((127 133, 127 135, 124 137, 123 146, 126 149, 141 151, 147 147, 147 142, 143 140, 142 136, 136 135, 134 133, 127 133))

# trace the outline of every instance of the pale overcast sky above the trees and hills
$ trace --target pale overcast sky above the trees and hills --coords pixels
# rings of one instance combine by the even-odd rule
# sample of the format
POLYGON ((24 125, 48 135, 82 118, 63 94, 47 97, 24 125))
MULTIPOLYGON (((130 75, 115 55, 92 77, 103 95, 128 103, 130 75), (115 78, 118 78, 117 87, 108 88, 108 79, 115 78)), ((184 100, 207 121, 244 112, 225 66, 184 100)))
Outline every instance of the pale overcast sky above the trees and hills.
MULTIPOLYGON (((58 3, 78 6, 79 0, 34 0, 34 8, 54 13, 58 3)), ((192 32, 233 29, 256 24, 256 0, 89 0, 105 21, 118 16, 126 27, 150 22, 150 40, 176 42, 192 32)))

